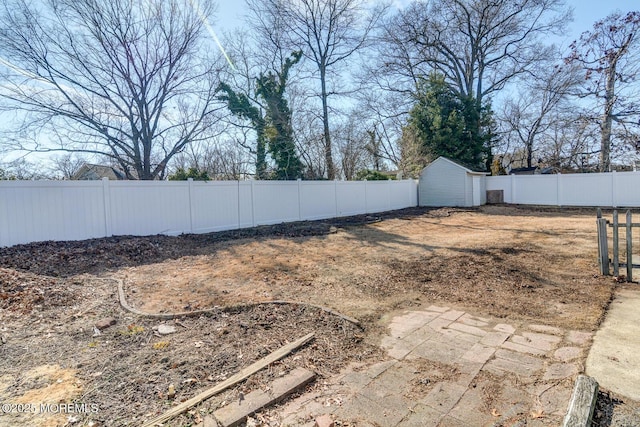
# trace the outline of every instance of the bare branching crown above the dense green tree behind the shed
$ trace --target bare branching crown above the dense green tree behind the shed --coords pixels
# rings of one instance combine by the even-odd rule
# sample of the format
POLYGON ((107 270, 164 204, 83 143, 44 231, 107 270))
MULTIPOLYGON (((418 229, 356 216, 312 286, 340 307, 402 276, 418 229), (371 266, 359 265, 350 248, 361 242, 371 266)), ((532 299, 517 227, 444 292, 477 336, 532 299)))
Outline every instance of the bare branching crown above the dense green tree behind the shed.
POLYGON ((380 71, 399 80, 378 80, 413 93, 435 70, 480 109, 549 55, 542 37, 569 19, 563 0, 414 1, 386 24, 381 39, 380 71))

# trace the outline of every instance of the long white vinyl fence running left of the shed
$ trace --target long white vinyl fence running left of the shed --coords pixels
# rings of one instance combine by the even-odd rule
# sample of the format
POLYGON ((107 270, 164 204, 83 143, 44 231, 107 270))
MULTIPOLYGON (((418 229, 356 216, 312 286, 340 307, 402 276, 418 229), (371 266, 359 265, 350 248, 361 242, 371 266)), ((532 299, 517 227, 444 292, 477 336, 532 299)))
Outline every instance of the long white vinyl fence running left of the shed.
POLYGON ((417 205, 406 181, 0 181, 0 247, 208 233, 417 205))

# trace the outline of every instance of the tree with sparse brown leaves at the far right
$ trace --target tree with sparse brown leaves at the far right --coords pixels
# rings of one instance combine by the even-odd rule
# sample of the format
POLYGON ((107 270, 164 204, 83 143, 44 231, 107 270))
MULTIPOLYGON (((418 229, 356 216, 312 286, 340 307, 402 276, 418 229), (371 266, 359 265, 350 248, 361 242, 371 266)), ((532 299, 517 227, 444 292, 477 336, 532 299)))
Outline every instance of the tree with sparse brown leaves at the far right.
MULTIPOLYGON (((585 72, 580 97, 595 97, 600 105, 597 122, 600 126, 601 172, 611 167, 613 124, 635 127, 640 114, 640 92, 637 89, 640 71, 640 12, 626 15, 613 13, 594 24, 571 44, 567 62, 580 64, 585 72)), ((635 132, 624 132, 634 143, 635 132)))

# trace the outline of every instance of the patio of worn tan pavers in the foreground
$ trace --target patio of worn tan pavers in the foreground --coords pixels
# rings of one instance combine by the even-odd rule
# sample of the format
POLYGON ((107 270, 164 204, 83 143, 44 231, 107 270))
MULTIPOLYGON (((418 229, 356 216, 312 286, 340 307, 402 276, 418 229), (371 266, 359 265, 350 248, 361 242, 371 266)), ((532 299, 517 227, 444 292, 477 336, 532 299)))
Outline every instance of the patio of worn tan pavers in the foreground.
POLYGON ((387 322, 380 346, 390 360, 329 379, 323 394, 285 407, 288 419, 328 413, 358 426, 559 425, 592 339, 589 332, 504 323, 440 306, 387 322), (432 365, 441 368, 435 374, 417 368, 432 365), (421 378, 433 382, 416 391, 421 378))

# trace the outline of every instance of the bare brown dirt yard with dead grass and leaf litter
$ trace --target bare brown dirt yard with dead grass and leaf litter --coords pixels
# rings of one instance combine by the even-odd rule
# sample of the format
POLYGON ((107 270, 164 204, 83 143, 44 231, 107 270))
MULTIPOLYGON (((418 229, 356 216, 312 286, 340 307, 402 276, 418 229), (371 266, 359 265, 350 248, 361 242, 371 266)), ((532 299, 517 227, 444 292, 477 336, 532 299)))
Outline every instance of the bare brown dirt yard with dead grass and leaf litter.
MULTIPOLYGON (((0 413, 0 426, 139 425, 316 333, 300 351, 168 424, 192 425, 293 367, 322 378, 381 360, 380 319, 424 304, 592 331, 616 286, 598 275, 595 231, 590 209, 415 208, 2 248, 0 403, 14 405, 3 405, 10 413, 0 413), (119 305, 114 278, 139 310, 211 312, 170 321, 132 314, 119 305), (274 300, 300 304, 259 304, 274 300), (96 330, 106 318, 115 325, 96 330), (158 333, 162 323, 176 331, 158 333)), ((278 425, 264 417, 264 425, 278 425)))

